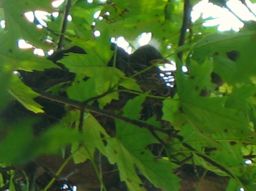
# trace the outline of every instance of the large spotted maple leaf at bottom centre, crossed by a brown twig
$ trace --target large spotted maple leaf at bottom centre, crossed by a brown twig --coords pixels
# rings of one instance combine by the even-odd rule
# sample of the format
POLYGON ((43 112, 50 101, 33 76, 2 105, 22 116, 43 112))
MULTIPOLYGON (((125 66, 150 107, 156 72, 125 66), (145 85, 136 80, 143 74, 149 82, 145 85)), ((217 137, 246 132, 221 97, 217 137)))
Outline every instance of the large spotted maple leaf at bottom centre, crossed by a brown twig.
MULTIPOLYGON (((128 101, 123 109, 124 116, 138 118, 144 99, 145 95, 128 101)), ((111 163, 117 164, 120 178, 130 190, 144 190, 135 166, 155 186, 166 191, 179 190, 179 178, 172 173, 176 164, 168 159, 156 159, 147 148, 157 142, 148 130, 116 121, 116 137, 108 140, 107 157, 111 163)))

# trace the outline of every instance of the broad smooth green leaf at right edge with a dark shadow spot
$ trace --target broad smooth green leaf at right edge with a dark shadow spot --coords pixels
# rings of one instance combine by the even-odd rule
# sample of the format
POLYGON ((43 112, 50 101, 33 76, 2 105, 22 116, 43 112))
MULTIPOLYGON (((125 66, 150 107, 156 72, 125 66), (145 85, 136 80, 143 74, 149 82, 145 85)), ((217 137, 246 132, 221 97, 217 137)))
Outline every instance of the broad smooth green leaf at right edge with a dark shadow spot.
POLYGON ((256 33, 212 34, 195 43, 193 59, 214 59, 214 71, 228 83, 251 82, 255 76, 256 33))

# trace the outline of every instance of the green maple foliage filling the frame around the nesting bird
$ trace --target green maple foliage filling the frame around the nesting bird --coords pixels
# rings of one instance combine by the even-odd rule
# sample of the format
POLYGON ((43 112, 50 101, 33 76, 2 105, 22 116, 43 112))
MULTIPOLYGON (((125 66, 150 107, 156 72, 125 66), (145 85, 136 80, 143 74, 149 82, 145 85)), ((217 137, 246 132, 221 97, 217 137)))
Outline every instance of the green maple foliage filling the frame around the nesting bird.
MULTIPOLYGON (((208 172, 226 177, 219 190, 254 190, 254 23, 245 23, 240 32, 204 27, 202 23, 211 18, 191 23, 191 7, 198 2, 192 0, 66 0, 57 8, 51 2, 0 1, 0 19, 6 24, 0 29, 0 109, 5 113, 6 107, 19 102, 28 113, 12 123, 5 117, 0 121, 2 190, 19 190, 16 177, 21 170, 16 166, 60 152, 69 156, 61 169, 70 159, 75 164, 90 160, 103 190, 107 187, 97 167, 98 155, 116 164, 120 180, 130 191, 146 190, 145 180, 165 191, 185 190, 180 183, 184 179, 180 171, 185 165, 199 168, 202 182, 208 172), (38 10, 49 13, 44 18, 46 24, 37 17, 33 22, 26 19, 26 12, 32 11, 35 16, 38 10), (95 18, 97 11, 100 16, 95 18), (58 12, 57 17, 54 12, 58 12), (71 21, 67 21, 69 14, 71 21), (95 36, 95 31, 101 35, 95 36), (165 61, 176 63, 177 70, 172 73, 175 86, 168 87, 175 92, 172 95, 152 93, 154 89, 144 88, 147 80, 140 81, 140 76, 151 68, 163 66, 164 59, 151 61, 151 66, 131 75, 108 65, 111 59, 113 66, 118 61, 117 47, 111 49, 112 37, 124 36, 135 47, 135 39, 143 32, 151 32, 161 44, 159 51, 165 61), (33 48, 19 48, 20 39, 33 48), (49 50, 61 52, 74 45, 85 52, 64 52, 65 57, 57 63, 47 59, 49 50), (35 48, 42 49, 45 56, 34 55, 35 48), (183 72, 183 66, 188 72, 183 72), (26 75, 30 79, 30 74, 46 76, 55 70, 74 76, 53 83, 45 78, 38 86, 24 82, 26 75), (214 81, 214 75, 220 83, 214 81), (124 95, 132 96, 126 99, 124 95), (34 124, 38 124, 42 113, 49 115, 45 105, 37 101, 42 97, 51 103, 65 104, 65 114, 35 135, 34 124), (161 105, 160 117, 142 117, 147 100, 161 105), (245 161, 252 164, 246 165, 245 161)), ((226 3, 221 5, 225 7, 226 3)), ((19 110, 14 108, 11 118, 19 110)), ((26 170, 22 172, 30 178, 26 170)), ((27 187, 22 189, 29 190, 31 181, 24 181, 27 187)), ((200 183, 196 187, 203 190, 200 183)), ((47 190, 51 184, 49 181, 41 189, 47 190)))

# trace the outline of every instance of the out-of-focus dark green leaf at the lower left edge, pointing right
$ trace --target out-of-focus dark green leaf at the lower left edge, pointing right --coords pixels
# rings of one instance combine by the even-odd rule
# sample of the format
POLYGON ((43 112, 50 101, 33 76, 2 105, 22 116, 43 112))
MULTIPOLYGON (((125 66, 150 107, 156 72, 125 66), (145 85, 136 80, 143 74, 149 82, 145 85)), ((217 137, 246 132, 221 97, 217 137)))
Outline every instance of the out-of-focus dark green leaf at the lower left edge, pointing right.
POLYGON ((83 138, 77 130, 62 128, 56 125, 50 130, 35 137, 31 128, 33 121, 19 121, 6 130, 0 141, 0 161, 11 164, 24 164, 42 154, 50 154, 69 143, 79 142, 83 138))

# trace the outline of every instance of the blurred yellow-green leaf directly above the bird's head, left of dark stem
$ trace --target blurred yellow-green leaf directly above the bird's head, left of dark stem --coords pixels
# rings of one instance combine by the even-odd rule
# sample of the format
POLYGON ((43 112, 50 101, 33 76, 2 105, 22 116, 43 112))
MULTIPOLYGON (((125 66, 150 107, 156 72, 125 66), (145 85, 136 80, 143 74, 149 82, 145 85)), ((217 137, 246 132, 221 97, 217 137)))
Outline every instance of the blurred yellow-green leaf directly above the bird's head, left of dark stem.
MULTIPOLYGON (((150 2, 115 0, 112 4, 105 3, 103 4, 102 16, 106 12, 109 12, 110 15, 105 16, 106 19, 96 21, 95 28, 102 31, 107 26, 112 36, 125 36, 128 40, 134 40, 142 32, 150 31, 155 39, 168 41, 171 38, 178 41, 182 16, 179 16, 180 11, 176 11, 179 7, 177 6, 173 12, 177 14, 180 22, 178 20, 175 22, 165 20, 166 6, 169 3, 167 0, 151 0, 150 2)), ((168 16, 175 15, 174 13, 168 14, 168 16)), ((172 43, 175 45, 173 41, 172 43)))

